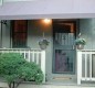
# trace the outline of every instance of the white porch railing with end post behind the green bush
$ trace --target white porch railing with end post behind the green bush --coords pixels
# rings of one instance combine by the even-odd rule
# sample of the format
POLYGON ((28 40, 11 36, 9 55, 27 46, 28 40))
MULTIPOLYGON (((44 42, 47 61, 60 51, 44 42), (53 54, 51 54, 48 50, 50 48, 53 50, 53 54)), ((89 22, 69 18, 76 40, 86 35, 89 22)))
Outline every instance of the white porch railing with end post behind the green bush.
POLYGON ((30 48, 0 48, 0 53, 20 53, 28 62, 34 62, 40 65, 45 82, 45 51, 30 48))

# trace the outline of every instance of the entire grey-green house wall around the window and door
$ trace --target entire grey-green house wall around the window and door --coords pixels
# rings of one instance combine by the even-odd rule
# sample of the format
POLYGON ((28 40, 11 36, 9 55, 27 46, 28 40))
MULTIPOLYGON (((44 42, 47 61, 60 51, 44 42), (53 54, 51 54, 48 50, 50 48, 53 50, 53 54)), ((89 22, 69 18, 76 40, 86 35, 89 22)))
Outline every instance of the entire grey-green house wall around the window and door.
MULTIPOLYGON (((10 21, 7 25, 2 25, 2 47, 10 47, 10 21)), ((1 30, 1 29, 0 29, 1 30)), ((40 48, 39 41, 43 38, 43 32, 45 38, 49 40, 50 44, 46 51, 46 79, 52 80, 53 77, 57 76, 70 76, 72 78, 75 75, 63 75, 63 74, 52 74, 52 58, 53 58, 53 38, 52 38, 52 23, 46 25, 42 20, 29 20, 28 21, 28 47, 40 48)), ((87 43, 85 50, 95 50, 95 19, 81 19, 80 20, 80 32, 82 37, 84 37, 87 43)), ((1 36, 0 36, 1 38, 1 36)))

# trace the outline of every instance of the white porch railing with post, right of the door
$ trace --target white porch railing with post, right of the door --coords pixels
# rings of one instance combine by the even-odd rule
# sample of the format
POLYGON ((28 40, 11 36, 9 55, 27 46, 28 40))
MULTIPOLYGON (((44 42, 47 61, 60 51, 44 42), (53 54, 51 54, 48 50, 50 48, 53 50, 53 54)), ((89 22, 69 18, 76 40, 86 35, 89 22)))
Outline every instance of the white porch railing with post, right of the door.
POLYGON ((77 85, 81 81, 95 81, 95 51, 76 51, 77 58, 77 85))

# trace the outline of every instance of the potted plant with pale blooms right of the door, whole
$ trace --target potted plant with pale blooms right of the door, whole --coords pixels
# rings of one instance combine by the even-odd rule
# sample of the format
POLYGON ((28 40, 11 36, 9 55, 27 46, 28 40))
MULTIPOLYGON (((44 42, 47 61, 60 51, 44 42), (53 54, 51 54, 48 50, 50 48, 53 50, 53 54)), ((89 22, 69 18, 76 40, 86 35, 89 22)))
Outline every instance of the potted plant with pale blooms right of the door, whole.
POLYGON ((75 40, 75 45, 76 45, 77 50, 83 50, 85 44, 86 44, 85 38, 78 37, 75 40))

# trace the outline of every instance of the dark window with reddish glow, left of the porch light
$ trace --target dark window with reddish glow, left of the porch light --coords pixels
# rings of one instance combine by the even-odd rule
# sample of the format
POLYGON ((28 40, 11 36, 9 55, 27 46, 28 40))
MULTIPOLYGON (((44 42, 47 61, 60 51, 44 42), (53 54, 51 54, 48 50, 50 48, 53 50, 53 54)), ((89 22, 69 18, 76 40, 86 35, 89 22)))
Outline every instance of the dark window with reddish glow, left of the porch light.
POLYGON ((27 20, 12 21, 12 47, 27 47, 27 20))

